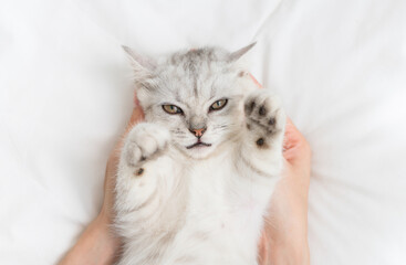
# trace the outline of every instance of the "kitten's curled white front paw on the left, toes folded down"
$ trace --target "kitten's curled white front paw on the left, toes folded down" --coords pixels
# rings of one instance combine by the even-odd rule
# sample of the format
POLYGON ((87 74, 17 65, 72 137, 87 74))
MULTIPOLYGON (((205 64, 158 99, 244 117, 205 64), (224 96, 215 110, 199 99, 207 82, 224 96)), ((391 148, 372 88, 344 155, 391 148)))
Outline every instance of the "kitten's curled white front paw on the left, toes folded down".
POLYGON ((155 124, 138 124, 129 131, 124 145, 124 158, 131 167, 155 157, 170 140, 169 130, 155 124))

